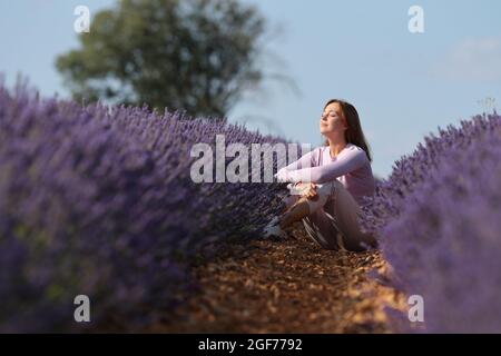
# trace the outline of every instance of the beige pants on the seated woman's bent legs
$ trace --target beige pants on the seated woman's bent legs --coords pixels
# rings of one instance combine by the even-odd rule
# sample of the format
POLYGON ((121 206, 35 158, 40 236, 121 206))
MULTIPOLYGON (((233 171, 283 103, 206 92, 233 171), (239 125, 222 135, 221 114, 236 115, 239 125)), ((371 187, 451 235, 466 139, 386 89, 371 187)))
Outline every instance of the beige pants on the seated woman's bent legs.
MULTIPOLYGON (((317 199, 307 199, 310 215, 303 218, 308 236, 326 249, 345 249, 360 251, 375 246, 372 234, 363 234, 358 217, 361 207, 341 181, 316 185, 317 199)), ((301 196, 293 195, 285 199, 291 207, 301 196)))

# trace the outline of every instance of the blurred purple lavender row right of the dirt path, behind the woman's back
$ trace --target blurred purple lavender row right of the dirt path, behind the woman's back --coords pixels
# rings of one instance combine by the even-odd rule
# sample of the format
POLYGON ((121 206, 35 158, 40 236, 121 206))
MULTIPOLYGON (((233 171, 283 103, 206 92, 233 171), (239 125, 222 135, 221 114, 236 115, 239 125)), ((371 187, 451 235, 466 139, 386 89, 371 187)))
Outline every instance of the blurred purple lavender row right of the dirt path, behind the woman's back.
MULTIPOLYGON (((501 332, 501 117, 440 129, 377 187, 364 228, 425 332, 501 332)), ((409 325, 409 322, 407 322, 409 325)))

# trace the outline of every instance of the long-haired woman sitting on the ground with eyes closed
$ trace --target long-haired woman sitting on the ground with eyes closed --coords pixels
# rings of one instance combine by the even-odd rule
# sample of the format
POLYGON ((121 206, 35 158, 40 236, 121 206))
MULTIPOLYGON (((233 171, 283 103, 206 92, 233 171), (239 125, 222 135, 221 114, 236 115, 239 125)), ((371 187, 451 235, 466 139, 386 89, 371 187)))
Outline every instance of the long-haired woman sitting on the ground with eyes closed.
POLYGON ((284 200, 283 214, 269 222, 265 236, 284 237, 284 229, 302 219, 310 237, 324 248, 358 251, 373 247, 374 236, 362 233, 358 224, 364 197, 374 194, 375 180, 356 109, 346 101, 330 100, 320 131, 325 146, 275 175, 303 194, 284 200))

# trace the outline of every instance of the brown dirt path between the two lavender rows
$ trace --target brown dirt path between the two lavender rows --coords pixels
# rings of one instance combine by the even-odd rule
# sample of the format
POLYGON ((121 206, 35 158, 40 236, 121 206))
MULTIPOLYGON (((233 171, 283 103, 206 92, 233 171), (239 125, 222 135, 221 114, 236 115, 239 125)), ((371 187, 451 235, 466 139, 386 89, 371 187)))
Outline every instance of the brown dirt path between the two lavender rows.
POLYGON ((366 276, 385 270, 379 253, 336 253, 294 238, 234 245, 193 270, 200 293, 159 333, 387 333, 383 307, 404 296, 366 276))

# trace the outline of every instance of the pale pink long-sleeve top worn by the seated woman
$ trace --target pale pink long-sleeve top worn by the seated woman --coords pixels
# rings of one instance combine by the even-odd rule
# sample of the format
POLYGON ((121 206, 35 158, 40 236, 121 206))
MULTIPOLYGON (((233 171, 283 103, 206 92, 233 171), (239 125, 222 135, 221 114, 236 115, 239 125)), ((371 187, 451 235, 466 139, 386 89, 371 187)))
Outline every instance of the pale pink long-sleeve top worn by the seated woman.
POLYGON ((365 151, 353 144, 346 144, 334 158, 328 146, 317 147, 285 168, 291 182, 322 184, 337 179, 361 206, 364 205, 362 197, 375 192, 371 161, 365 151))

